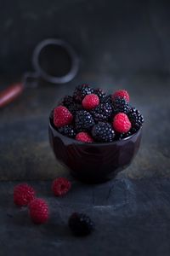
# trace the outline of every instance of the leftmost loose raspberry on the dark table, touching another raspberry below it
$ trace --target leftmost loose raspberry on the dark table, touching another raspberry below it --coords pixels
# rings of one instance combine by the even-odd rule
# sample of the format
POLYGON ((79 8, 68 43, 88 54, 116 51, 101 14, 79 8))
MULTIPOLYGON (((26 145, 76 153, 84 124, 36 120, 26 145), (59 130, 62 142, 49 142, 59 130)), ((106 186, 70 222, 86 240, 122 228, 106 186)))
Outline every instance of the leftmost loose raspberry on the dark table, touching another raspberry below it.
POLYGON ((17 206, 26 206, 35 196, 35 190, 26 183, 14 187, 14 204, 17 206))

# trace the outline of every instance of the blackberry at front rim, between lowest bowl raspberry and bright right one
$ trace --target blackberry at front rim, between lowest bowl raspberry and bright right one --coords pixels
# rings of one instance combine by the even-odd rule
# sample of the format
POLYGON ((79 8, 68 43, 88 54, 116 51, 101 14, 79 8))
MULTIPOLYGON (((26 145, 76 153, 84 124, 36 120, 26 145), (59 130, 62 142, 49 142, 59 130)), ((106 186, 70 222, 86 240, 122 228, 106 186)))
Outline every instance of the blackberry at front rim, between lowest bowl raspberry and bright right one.
POLYGON ((115 137, 111 124, 100 122, 92 128, 92 136, 99 143, 111 143, 115 137))

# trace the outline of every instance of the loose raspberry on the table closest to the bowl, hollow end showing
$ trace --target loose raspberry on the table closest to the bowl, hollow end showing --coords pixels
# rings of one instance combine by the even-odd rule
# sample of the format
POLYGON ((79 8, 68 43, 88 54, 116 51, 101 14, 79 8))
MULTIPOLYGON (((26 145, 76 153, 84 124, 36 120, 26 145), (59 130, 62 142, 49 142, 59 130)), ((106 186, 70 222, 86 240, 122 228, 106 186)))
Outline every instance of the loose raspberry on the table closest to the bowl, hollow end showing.
POLYGON ((65 177, 58 177, 52 183, 52 190, 56 196, 65 195, 70 189, 71 182, 65 177))

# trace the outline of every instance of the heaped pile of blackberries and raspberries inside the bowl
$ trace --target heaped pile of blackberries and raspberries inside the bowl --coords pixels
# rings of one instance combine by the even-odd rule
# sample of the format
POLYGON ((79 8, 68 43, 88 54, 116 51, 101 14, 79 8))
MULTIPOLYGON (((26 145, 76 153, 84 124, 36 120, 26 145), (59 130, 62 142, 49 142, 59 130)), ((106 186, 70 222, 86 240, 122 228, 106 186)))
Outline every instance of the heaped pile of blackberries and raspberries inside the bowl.
POLYGON ((55 129, 83 143, 111 143, 133 135, 144 123, 137 108, 129 104, 127 90, 106 95, 89 84, 78 85, 50 115, 55 129))

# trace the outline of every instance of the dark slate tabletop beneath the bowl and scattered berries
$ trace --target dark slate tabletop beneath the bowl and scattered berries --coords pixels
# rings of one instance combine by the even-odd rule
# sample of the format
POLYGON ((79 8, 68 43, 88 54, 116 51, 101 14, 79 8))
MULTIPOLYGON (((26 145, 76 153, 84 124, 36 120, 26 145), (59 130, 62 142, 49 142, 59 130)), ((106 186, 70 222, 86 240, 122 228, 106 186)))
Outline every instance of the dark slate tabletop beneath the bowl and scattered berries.
POLYGON ((170 254, 169 84, 167 75, 122 79, 84 73, 70 84, 26 89, 19 100, 0 109, 0 255, 170 254), (144 114, 143 139, 132 165, 115 180, 94 186, 72 180, 71 192, 54 198, 49 180, 68 173, 49 147, 48 113, 80 80, 110 91, 129 90, 131 102, 144 114), (37 195, 47 199, 47 224, 31 224, 26 208, 14 207, 16 180, 32 183, 37 195), (92 236, 71 236, 67 219, 74 211, 94 219, 92 236))

